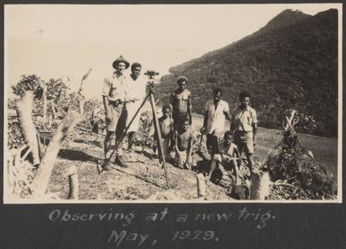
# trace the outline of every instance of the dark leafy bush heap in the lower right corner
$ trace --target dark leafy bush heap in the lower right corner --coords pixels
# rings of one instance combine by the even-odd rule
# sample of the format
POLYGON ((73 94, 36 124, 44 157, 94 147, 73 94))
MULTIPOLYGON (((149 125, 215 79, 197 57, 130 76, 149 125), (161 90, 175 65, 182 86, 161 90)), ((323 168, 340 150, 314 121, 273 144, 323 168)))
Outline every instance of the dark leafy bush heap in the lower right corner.
POLYGON ((285 131, 279 147, 268 156, 265 166, 271 181, 286 182, 285 186, 274 184, 270 199, 335 199, 337 184, 333 174, 302 147, 293 127, 285 131))

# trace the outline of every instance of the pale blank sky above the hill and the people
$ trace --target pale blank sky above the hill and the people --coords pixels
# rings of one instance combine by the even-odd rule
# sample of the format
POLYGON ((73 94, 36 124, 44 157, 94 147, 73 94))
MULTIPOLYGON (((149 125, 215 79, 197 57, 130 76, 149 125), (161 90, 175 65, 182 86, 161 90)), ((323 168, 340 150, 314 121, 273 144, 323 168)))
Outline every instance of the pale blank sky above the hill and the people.
POLYGON ((63 77, 101 96, 122 55, 160 76, 258 31, 285 9, 315 15, 340 4, 5 4, 4 90, 22 75, 63 77))

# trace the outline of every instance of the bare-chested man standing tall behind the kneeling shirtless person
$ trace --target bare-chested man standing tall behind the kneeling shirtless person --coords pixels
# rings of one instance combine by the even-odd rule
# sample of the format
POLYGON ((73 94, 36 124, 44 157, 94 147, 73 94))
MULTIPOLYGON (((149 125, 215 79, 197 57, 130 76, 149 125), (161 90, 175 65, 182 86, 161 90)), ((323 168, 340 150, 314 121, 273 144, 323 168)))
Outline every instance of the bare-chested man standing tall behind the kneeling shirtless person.
POLYGON ((186 88, 188 78, 181 76, 177 80, 179 88, 171 93, 170 103, 172 105, 173 129, 178 130, 182 120, 189 120, 192 123, 192 102, 191 92, 186 88))

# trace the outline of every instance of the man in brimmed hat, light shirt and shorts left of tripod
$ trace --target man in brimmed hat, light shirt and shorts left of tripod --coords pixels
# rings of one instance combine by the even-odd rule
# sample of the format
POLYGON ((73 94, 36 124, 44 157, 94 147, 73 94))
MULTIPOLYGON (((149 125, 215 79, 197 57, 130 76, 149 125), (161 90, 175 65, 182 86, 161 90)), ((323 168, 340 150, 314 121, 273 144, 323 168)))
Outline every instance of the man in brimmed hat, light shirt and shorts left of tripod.
MULTIPOLYGON (((121 115, 123 109, 123 102, 127 101, 127 76, 124 71, 129 68, 129 61, 120 56, 114 60, 112 66, 115 71, 111 76, 106 77, 103 81, 102 100, 106 114, 106 138, 104 138, 104 157, 107 160, 108 152, 111 147, 111 135, 116 135, 116 143, 119 141, 123 131, 123 124, 125 124, 125 116, 121 115)), ((121 156, 117 155, 115 162, 126 167, 121 156)), ((111 163, 103 165, 104 170, 110 170, 111 163)))

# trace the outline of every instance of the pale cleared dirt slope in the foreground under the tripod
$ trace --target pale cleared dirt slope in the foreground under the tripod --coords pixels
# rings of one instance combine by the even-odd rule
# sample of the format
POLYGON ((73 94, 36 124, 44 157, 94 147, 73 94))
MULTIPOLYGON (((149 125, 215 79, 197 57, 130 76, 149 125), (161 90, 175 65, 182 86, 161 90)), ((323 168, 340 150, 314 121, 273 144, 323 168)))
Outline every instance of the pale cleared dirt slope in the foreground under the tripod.
MULTIPOLYGON (((168 190, 164 169, 154 151, 137 147, 132 153, 124 151, 129 168, 113 164, 110 171, 100 173, 103 137, 78 129, 73 133, 59 151, 49 182, 49 191, 60 199, 67 199, 67 172, 70 166, 76 165, 80 200, 198 200, 197 168, 186 170, 167 164, 168 190)), ((232 198, 226 194, 226 188, 207 182, 205 200, 232 198)))

